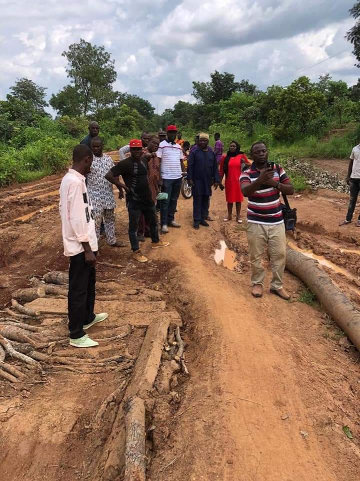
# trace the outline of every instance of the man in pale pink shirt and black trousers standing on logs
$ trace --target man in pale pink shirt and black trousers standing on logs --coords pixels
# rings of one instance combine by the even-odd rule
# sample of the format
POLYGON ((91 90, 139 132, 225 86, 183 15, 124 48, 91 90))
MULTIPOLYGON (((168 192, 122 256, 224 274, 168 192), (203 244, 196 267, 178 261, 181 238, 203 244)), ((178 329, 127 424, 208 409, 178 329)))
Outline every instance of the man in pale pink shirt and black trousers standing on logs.
POLYGON ((61 181, 59 203, 64 255, 70 258, 67 296, 70 346, 85 348, 98 346, 85 331, 107 318, 106 313, 93 312, 97 238, 85 184, 92 158, 87 145, 76 145, 73 149, 72 167, 61 181))

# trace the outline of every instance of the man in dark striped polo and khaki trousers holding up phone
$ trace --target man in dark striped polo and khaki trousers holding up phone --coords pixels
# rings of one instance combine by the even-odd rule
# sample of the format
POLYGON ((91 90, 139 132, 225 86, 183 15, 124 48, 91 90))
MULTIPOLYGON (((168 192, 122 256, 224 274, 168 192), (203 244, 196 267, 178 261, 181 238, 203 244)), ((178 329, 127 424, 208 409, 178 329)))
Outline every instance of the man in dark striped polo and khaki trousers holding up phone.
POLYGON ((261 257, 267 247, 272 270, 270 292, 288 300, 290 296, 282 287, 286 237, 280 192, 291 195, 293 186, 281 166, 269 166, 267 148, 263 142, 255 142, 251 146, 251 157, 251 167, 240 176, 242 193, 248 198, 247 242, 251 263, 251 294, 254 297, 262 296, 265 272, 261 257))

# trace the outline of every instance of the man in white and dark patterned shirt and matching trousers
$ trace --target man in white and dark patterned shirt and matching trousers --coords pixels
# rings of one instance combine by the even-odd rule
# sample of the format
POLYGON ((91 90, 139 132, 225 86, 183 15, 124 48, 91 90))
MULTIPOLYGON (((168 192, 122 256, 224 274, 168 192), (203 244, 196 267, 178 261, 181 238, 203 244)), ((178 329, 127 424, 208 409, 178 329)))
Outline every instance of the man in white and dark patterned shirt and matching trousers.
MULTIPOLYGON (((124 247, 115 237, 116 207, 112 185, 105 179, 105 174, 114 166, 113 160, 102 153, 103 142, 100 137, 91 139, 93 161, 87 175, 87 191, 89 193, 95 216, 95 231, 97 240, 100 237, 101 222, 104 223, 107 244, 112 247, 124 247)), ((123 196, 123 194, 122 194, 123 196)))

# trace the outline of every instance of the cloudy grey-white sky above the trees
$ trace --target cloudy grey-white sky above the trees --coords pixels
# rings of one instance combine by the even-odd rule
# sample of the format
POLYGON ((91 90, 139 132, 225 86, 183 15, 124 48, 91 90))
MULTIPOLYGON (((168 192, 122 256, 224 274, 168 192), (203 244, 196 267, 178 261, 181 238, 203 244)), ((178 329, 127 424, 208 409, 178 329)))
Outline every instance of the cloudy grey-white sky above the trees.
POLYGON ((160 113, 193 101, 193 80, 216 70, 265 89, 301 75, 356 83, 351 46, 355 0, 0 0, 0 98, 16 78, 67 83, 61 52, 83 38, 115 60, 115 89, 148 99, 160 113), (344 51, 347 49, 346 51, 344 51), (344 51, 340 53, 341 51, 344 51), (322 62, 324 61, 324 62, 322 62))

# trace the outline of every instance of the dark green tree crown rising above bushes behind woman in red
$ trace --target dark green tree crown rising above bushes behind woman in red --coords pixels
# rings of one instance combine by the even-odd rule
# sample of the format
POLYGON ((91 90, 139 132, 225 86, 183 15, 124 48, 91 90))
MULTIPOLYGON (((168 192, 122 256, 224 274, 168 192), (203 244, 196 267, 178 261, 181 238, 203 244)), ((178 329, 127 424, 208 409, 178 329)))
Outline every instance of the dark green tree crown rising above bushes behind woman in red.
POLYGON ((224 72, 220 74, 217 70, 210 74, 210 82, 192 82, 192 95, 201 104, 212 104, 231 97, 232 92, 239 90, 235 76, 224 72))

